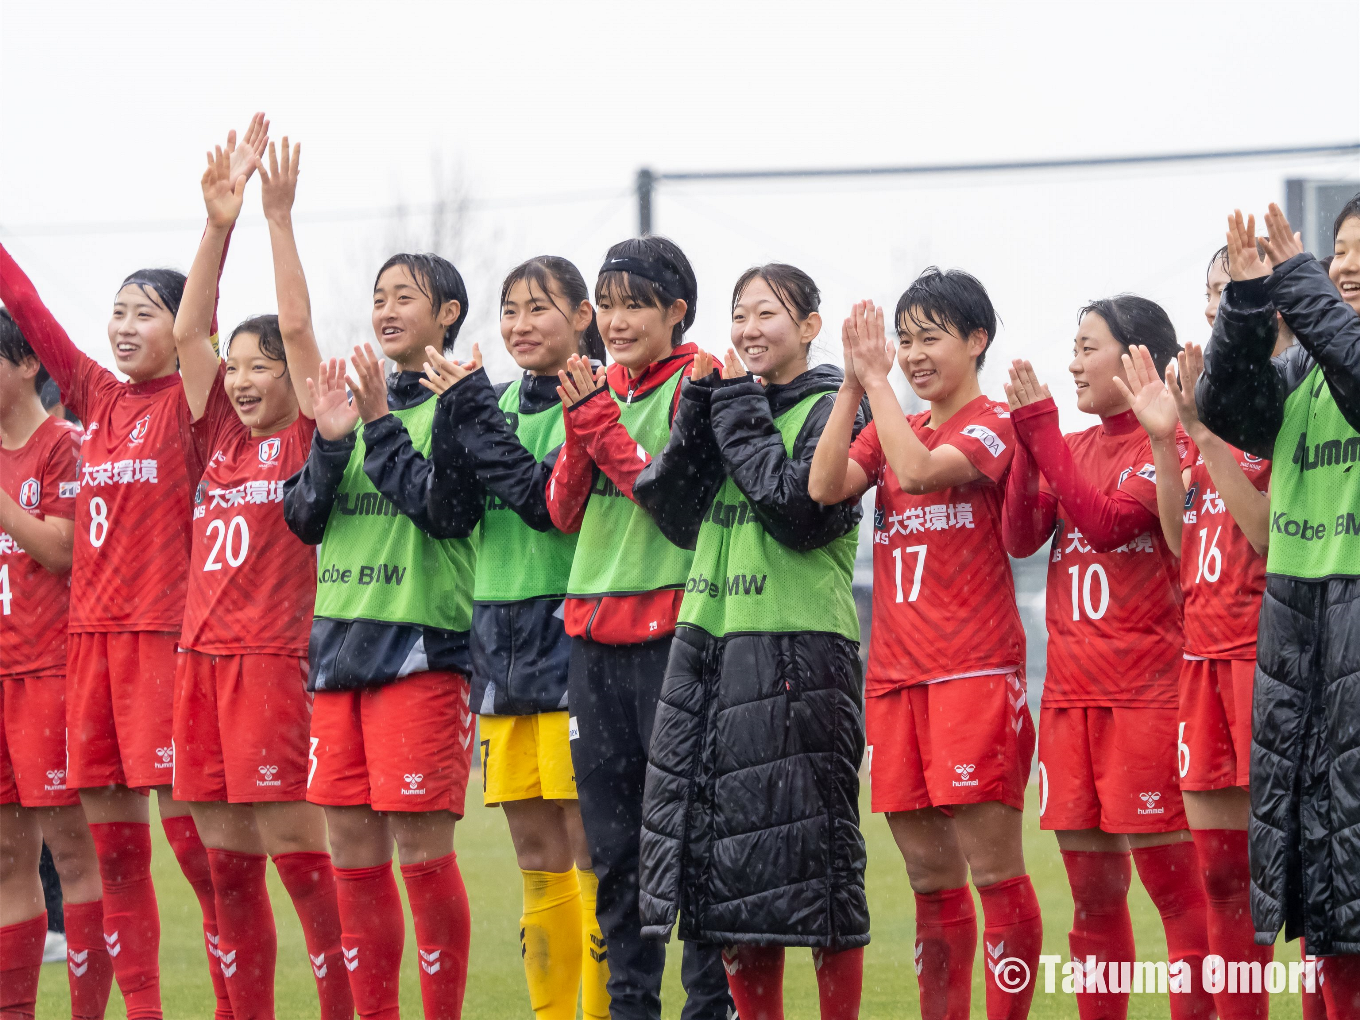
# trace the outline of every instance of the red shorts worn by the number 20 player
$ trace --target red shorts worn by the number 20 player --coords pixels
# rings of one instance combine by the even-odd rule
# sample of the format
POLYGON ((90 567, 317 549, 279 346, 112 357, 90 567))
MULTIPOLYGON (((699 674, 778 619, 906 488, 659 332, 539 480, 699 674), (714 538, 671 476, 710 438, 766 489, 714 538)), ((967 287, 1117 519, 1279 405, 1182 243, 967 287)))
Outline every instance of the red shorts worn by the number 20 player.
POLYGON ((177 801, 305 801, 311 695, 296 656, 180 653, 177 801))

